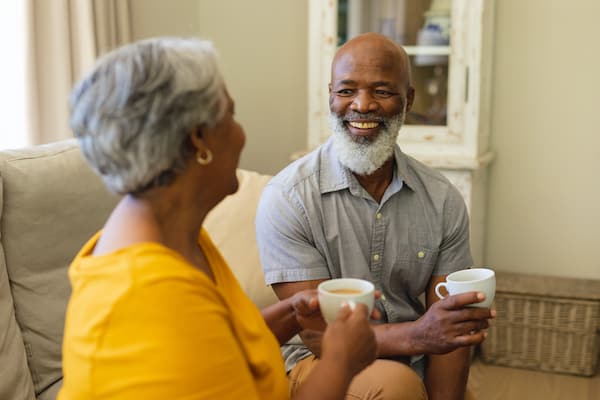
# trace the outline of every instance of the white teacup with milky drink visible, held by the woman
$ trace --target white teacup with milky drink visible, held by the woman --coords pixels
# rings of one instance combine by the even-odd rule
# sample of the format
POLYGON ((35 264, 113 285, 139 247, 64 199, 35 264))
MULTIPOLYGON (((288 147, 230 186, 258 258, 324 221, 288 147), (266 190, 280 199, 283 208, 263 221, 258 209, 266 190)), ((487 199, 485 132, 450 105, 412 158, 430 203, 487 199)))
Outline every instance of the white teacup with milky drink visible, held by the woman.
POLYGON ((375 286, 369 281, 355 278, 338 278, 321 282, 317 288, 321 314, 327 323, 335 321, 342 303, 354 309, 356 303, 363 303, 373 311, 375 286))

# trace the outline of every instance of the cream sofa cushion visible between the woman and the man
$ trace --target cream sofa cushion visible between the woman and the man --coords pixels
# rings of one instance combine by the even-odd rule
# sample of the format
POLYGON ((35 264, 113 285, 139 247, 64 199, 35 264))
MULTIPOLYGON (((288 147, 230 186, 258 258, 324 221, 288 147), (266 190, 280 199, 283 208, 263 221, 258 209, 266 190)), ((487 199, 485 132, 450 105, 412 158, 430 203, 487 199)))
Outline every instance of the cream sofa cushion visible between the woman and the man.
POLYGON ((259 308, 277 301, 265 284, 258 256, 254 218, 268 175, 238 169, 237 193, 226 197, 206 217, 204 227, 219 248, 242 289, 259 308))

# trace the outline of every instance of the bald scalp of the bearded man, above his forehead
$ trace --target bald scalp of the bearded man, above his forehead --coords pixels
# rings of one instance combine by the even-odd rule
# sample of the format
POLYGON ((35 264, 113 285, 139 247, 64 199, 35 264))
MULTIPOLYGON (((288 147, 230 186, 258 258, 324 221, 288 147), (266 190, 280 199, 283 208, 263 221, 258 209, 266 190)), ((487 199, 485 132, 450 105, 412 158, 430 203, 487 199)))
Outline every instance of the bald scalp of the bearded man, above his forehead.
POLYGON ((410 61, 404 49, 387 36, 369 32, 350 39, 335 54, 331 65, 332 81, 339 64, 370 64, 391 70, 403 86, 410 86, 410 61))

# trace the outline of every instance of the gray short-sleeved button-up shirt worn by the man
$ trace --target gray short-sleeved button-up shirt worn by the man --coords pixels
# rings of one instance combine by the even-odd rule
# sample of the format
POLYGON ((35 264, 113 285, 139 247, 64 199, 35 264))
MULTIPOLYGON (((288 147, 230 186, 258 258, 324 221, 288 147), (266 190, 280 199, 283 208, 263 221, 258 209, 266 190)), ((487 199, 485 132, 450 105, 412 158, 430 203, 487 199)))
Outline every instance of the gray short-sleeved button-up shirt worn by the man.
POLYGON ((398 146, 394 158, 380 203, 338 162, 331 139, 276 175, 256 216, 267 284, 362 278, 385 295, 383 322, 419 318, 432 275, 472 265, 469 218, 443 175, 398 146))

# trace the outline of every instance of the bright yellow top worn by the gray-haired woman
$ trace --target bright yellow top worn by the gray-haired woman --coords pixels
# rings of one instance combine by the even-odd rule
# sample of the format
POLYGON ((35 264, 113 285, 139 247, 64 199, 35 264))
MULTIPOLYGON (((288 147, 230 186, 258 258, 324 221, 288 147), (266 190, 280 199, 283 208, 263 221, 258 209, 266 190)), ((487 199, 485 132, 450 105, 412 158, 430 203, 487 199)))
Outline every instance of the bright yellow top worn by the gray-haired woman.
POLYGON ((69 269, 63 342, 70 399, 287 399, 279 344, 208 234, 215 283, 158 243, 91 256, 69 269))

